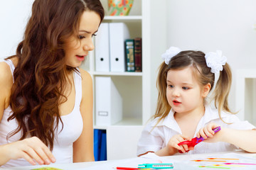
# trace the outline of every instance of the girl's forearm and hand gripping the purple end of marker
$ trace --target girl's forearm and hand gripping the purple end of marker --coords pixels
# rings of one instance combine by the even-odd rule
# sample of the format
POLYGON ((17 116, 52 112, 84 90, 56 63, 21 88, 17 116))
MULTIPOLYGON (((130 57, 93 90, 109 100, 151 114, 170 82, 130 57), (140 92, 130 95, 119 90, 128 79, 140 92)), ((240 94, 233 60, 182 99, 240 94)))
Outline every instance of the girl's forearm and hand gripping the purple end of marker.
POLYGON ((231 128, 222 128, 214 134, 213 128, 219 125, 209 123, 205 128, 199 130, 197 137, 200 135, 207 139, 206 142, 228 142, 247 152, 256 152, 256 130, 235 130, 231 128))

